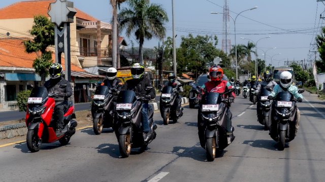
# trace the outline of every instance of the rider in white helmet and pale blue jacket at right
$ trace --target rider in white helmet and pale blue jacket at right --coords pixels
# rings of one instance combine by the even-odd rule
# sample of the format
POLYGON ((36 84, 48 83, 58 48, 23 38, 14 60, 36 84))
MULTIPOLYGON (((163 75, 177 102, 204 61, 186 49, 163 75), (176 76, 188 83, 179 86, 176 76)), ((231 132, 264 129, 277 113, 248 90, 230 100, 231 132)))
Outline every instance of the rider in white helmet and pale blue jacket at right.
MULTIPOLYGON (((297 86, 292 85, 292 83, 293 83, 292 77, 293 77, 293 75, 290 72, 283 71, 280 74, 280 84, 275 85, 273 87, 273 90, 270 93, 268 99, 272 100, 273 98, 275 98, 277 96, 278 93, 283 92, 283 91, 288 91, 297 99, 298 102, 302 102, 303 96, 298 93, 297 86)), ((296 116, 297 116, 296 117, 297 119, 296 119, 296 133, 295 134, 297 134, 297 131, 299 129, 299 121, 300 121, 300 111, 299 111, 298 107, 297 107, 297 115, 296 116)), ((273 119, 272 119, 270 133, 275 133, 273 131, 277 129, 277 128, 272 127, 272 126, 276 126, 276 123, 273 123, 273 122, 276 122, 276 121, 273 121, 273 119)))

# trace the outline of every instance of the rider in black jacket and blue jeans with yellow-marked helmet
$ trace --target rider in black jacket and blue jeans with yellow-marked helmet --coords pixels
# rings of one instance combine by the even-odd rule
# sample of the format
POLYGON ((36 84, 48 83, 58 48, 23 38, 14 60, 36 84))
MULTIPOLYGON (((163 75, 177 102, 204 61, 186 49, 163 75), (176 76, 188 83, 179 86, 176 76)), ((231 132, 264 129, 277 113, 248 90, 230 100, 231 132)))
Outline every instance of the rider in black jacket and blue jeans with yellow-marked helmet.
MULTIPOLYGON (((133 90, 137 96, 144 96, 145 99, 151 100, 156 97, 156 92, 152 86, 152 82, 145 76, 144 66, 140 63, 135 63, 131 67, 131 74, 133 79, 127 80, 122 86, 122 90, 133 90), (146 90, 146 87, 152 87, 146 90)), ((148 111, 152 109, 148 101, 142 103, 142 125, 143 125, 143 139, 147 141, 151 136, 151 129, 149 127, 148 111)))

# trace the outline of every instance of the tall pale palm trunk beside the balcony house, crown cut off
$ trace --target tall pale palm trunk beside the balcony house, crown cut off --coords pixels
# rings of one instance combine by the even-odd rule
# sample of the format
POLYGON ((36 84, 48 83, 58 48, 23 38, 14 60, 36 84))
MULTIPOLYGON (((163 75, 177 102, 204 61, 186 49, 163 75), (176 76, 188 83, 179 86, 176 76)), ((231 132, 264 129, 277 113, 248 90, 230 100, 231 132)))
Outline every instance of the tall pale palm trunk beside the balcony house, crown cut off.
POLYGON ((113 9, 113 25, 112 25, 112 61, 113 67, 117 67, 117 6, 121 3, 125 2, 126 0, 110 0, 110 4, 112 5, 113 9))

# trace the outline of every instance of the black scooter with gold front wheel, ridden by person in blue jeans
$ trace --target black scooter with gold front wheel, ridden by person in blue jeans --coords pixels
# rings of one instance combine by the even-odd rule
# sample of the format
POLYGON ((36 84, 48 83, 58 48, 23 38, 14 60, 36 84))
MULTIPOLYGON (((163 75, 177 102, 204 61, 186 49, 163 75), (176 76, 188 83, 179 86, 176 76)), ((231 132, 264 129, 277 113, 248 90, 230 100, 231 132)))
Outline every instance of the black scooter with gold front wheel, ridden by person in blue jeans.
MULTIPOLYGON (((150 89, 150 88, 147 88, 150 89)), ((152 134, 148 141, 143 139, 142 102, 147 101, 144 97, 137 97, 133 90, 121 91, 116 100, 114 122, 116 124, 115 134, 118 140, 119 150, 122 157, 128 157, 131 148, 146 150, 148 144, 156 138, 153 123, 153 110, 148 110, 149 127, 152 134)))

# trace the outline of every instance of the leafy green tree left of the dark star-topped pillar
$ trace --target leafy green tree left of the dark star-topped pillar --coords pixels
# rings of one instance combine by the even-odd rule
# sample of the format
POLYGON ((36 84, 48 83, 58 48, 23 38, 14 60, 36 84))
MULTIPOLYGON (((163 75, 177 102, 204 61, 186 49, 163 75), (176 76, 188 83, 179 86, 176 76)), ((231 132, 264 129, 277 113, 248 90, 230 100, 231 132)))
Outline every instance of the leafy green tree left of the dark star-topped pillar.
POLYGON ((49 74, 48 68, 52 63, 52 52, 47 50, 50 45, 54 45, 54 24, 41 15, 34 17, 34 25, 29 31, 34 36, 33 40, 24 40, 23 44, 26 53, 36 53, 32 67, 41 76, 41 84, 45 83, 45 78, 49 74))

